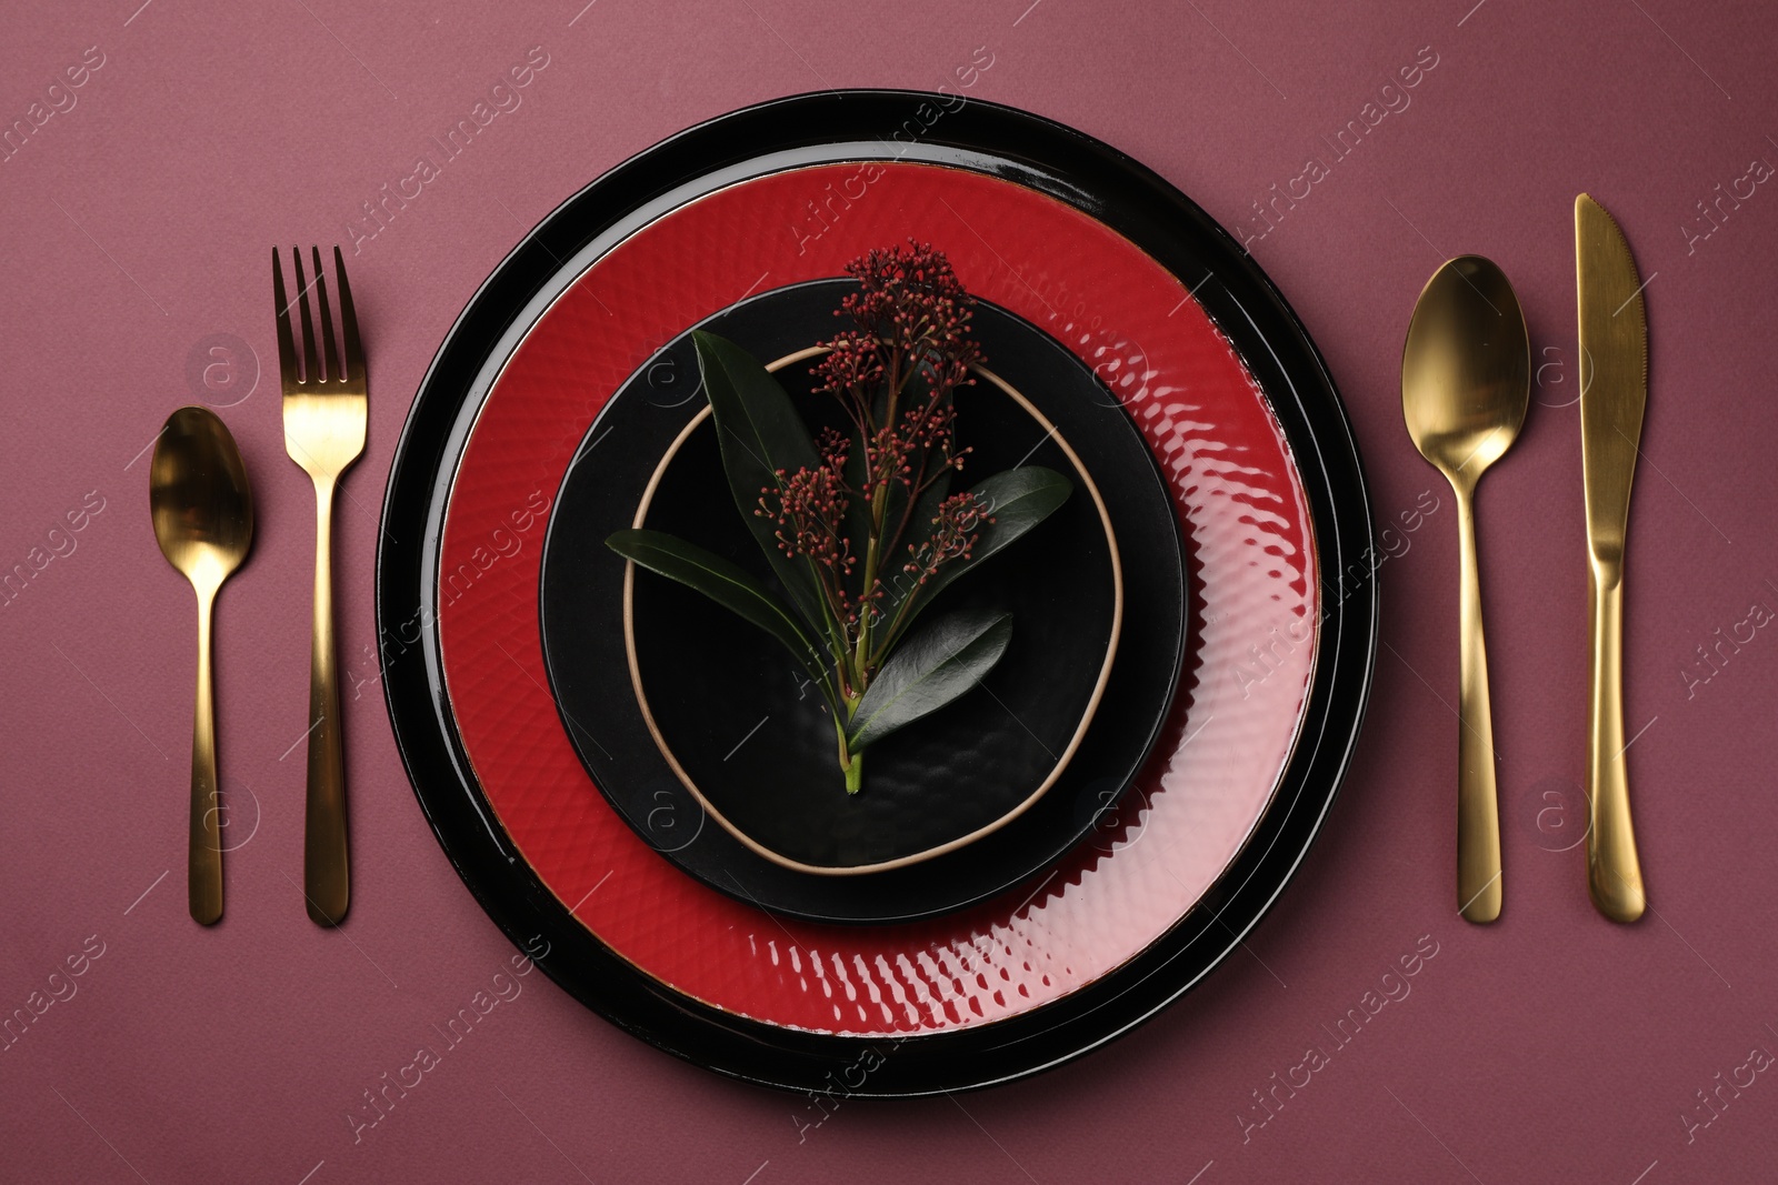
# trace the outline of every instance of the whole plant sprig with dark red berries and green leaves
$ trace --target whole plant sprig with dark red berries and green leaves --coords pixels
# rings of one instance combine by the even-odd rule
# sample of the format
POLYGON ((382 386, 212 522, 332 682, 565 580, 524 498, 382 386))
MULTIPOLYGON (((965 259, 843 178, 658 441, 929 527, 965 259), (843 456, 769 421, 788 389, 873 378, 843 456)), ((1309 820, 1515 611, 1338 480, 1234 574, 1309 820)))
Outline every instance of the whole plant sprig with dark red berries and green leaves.
POLYGON ((797 656, 834 716, 846 792, 864 750, 974 688, 1012 641, 1012 615, 955 611, 910 634, 958 576, 1047 519, 1072 492, 1053 469, 1021 465, 953 494, 955 393, 981 361, 974 300, 949 261, 921 243, 871 251, 825 345, 816 393, 846 430, 811 439, 789 394, 741 346, 693 332, 722 465, 789 604, 740 567, 660 531, 617 531, 626 560, 699 590, 797 656))

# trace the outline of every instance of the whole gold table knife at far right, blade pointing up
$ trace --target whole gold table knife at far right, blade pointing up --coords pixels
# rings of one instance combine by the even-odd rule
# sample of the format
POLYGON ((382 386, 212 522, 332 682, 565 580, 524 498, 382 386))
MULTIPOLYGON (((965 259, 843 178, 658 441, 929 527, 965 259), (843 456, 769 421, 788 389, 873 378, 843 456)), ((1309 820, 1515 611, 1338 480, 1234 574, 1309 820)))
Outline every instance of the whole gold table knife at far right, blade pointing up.
POLYGON ((1623 537, 1630 517, 1643 407, 1648 318, 1623 231, 1604 206, 1574 199, 1581 300, 1581 465, 1586 480, 1590 691, 1586 885, 1613 922, 1643 915, 1643 871, 1623 764, 1623 537))

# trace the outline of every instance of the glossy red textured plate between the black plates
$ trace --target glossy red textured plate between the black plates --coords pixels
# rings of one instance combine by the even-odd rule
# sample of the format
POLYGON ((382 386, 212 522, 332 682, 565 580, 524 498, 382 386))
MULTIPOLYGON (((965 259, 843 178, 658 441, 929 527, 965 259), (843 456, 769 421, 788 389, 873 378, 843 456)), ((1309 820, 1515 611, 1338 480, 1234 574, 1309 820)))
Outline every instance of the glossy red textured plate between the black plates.
POLYGON ((1229 867, 1271 801, 1316 652, 1301 478, 1259 386, 1198 302, 1074 206, 910 162, 740 181, 599 256, 489 393, 452 487, 439 572, 461 739, 542 883, 661 984, 829 1034, 1005 1020, 1149 947, 1229 867), (589 780, 546 691, 541 512, 605 400, 661 343, 766 286, 839 275, 853 256, 909 236, 949 254, 973 293, 1076 352, 1131 409, 1188 540, 1191 656, 1170 730, 1117 826, 1037 892, 910 926, 781 920, 676 871, 589 780))

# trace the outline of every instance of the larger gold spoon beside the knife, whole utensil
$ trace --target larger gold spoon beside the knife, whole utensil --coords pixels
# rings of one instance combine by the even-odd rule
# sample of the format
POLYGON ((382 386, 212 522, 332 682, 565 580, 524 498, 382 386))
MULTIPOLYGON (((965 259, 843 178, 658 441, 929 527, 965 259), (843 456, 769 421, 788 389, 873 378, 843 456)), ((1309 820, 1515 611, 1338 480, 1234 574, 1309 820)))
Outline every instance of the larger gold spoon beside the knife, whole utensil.
POLYGON ((1401 350, 1401 414, 1451 481, 1462 563, 1456 899, 1470 922, 1501 917, 1501 812, 1476 574, 1476 483, 1513 446, 1531 402, 1531 339, 1506 275, 1458 256, 1426 281, 1401 350))

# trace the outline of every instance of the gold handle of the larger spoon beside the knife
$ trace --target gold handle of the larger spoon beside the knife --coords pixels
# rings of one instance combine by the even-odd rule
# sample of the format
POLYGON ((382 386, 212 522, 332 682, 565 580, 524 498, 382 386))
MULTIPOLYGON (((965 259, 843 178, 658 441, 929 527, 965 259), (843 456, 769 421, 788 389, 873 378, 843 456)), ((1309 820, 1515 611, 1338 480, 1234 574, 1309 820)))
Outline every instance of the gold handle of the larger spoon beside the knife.
POLYGON ((1465 920, 1492 922, 1501 917, 1501 810, 1494 782, 1494 711, 1488 704, 1488 650, 1481 631, 1481 577, 1476 570, 1474 489, 1456 490, 1456 529, 1462 556, 1456 899, 1465 920))

